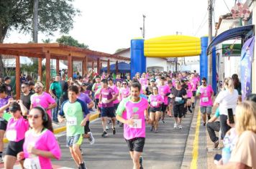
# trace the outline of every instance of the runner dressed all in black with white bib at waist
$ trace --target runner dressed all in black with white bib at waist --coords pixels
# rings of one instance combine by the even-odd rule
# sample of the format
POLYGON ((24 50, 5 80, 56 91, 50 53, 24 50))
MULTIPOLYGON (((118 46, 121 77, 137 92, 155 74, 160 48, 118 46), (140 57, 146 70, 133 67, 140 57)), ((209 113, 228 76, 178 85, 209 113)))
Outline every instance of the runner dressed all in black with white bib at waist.
POLYGON ((186 90, 180 86, 180 80, 175 81, 175 88, 173 88, 170 98, 173 99, 173 113, 175 117, 174 128, 179 127, 179 129, 182 129, 181 121, 187 93, 186 90))

